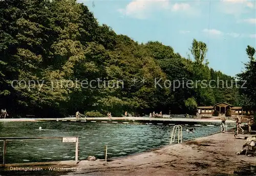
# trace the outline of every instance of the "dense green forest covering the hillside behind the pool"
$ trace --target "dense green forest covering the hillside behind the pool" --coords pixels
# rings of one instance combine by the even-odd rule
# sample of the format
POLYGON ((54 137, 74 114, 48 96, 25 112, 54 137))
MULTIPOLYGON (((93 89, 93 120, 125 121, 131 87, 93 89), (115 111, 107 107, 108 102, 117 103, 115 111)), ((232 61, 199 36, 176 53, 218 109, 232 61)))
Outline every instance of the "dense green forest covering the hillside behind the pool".
POLYGON ((218 102, 238 106, 244 100, 240 94, 246 96, 230 86, 234 78, 208 67, 204 42, 191 41, 187 58, 158 41, 140 44, 100 25, 74 0, 0 1, 0 27, 0 108, 11 116, 193 113, 218 102), (156 79, 160 85, 175 80, 181 85, 155 86, 156 79), (93 85, 72 86, 84 80, 94 80, 93 85), (99 86, 95 80, 119 86, 99 86), (215 88, 195 86, 197 80, 215 88))

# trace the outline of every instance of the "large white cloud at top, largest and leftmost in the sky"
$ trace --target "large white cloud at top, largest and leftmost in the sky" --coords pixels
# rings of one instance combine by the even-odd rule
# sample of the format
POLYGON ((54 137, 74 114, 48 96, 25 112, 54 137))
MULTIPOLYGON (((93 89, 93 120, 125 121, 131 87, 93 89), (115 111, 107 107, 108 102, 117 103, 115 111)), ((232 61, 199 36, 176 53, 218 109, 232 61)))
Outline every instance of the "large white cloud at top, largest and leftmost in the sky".
POLYGON ((118 9, 123 15, 145 19, 150 17, 153 11, 165 10, 167 12, 182 12, 183 14, 197 14, 197 10, 193 9, 187 3, 171 4, 170 0, 133 0, 123 9, 118 9))

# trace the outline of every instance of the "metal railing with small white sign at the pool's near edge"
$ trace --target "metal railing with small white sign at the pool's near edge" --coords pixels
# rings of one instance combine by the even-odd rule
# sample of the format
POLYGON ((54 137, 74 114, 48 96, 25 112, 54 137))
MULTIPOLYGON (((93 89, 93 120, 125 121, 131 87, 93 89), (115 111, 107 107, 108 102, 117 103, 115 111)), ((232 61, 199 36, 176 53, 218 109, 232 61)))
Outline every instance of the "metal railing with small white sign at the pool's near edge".
POLYGON ((6 150, 7 150, 7 141, 13 140, 35 140, 35 139, 62 139, 62 143, 76 143, 75 150, 75 161, 78 161, 78 139, 81 137, 0 137, 0 140, 4 141, 3 147, 3 166, 6 162, 6 150))

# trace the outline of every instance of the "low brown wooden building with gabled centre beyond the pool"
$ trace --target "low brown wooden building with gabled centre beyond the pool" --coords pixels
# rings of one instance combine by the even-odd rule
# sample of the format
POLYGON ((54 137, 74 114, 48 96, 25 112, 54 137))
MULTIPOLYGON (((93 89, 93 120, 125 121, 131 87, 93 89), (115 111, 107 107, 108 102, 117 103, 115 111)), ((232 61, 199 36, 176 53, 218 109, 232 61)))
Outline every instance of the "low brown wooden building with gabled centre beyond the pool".
POLYGON ((212 113, 217 110, 220 114, 226 114, 226 111, 230 109, 232 115, 238 115, 241 114, 243 109, 242 107, 236 107, 233 105, 230 105, 225 102, 217 103, 213 106, 199 106, 197 107, 197 111, 201 115, 212 115, 212 113))

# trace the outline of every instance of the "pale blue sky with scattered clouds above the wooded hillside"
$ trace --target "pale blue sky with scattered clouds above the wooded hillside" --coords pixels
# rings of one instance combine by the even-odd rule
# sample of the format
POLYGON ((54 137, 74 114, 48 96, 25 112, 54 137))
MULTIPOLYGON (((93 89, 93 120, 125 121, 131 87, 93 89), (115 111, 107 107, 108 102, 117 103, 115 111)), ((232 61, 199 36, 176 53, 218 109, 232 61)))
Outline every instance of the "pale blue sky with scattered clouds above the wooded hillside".
MULTIPOLYGON (((193 39, 208 46, 209 67, 243 71, 247 45, 256 48, 256 1, 86 1, 100 24, 139 43, 159 41, 187 58, 193 39)), ((256 56, 255 56, 256 57, 256 56)))

